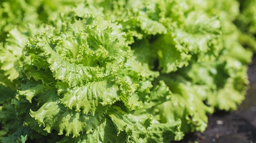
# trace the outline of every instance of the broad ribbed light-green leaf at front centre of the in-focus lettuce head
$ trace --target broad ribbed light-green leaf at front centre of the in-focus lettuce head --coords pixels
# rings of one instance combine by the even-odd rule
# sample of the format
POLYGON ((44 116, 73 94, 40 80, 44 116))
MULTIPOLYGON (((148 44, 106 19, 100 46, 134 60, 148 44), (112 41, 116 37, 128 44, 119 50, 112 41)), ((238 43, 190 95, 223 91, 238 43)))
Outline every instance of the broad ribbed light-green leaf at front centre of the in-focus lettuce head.
POLYGON ((108 106, 120 100, 119 86, 110 77, 103 81, 89 82, 80 87, 69 87, 65 82, 57 83, 58 95, 64 106, 84 114, 103 114, 108 106), (75 95, 75 96, 74 96, 75 95))

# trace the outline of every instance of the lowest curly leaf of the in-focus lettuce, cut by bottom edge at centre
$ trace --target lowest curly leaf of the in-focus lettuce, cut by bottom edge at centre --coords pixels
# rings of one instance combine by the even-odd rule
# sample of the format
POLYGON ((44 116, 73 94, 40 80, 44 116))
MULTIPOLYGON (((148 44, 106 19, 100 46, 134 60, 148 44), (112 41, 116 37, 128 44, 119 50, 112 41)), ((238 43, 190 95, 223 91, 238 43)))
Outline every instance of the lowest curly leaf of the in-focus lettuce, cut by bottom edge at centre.
POLYGON ((64 137, 58 143, 136 143, 147 136, 152 120, 150 115, 135 116, 115 105, 110 107, 107 116, 92 133, 83 133, 76 138, 64 137))

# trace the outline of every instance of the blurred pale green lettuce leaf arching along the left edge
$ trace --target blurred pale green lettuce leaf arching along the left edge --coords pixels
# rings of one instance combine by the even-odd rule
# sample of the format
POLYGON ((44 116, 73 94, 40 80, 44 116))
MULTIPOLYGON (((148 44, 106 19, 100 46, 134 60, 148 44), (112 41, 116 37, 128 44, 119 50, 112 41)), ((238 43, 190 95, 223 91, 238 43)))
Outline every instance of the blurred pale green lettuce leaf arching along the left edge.
POLYGON ((0 73, 4 86, 14 89, 18 86, 22 61, 26 60, 23 55, 24 45, 31 36, 44 29, 44 26, 38 28, 34 24, 27 24, 9 31, 6 42, 0 45, 0 73))

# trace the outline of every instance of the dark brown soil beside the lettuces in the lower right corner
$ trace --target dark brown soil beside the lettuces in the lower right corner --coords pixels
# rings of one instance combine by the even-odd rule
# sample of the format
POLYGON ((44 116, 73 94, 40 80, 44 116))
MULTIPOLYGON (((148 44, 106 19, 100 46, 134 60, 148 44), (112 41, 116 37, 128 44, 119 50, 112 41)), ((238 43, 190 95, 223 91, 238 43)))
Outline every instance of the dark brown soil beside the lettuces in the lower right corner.
POLYGON ((248 69, 251 82, 238 111, 217 111, 204 132, 187 134, 175 143, 256 143, 256 56, 248 69))

